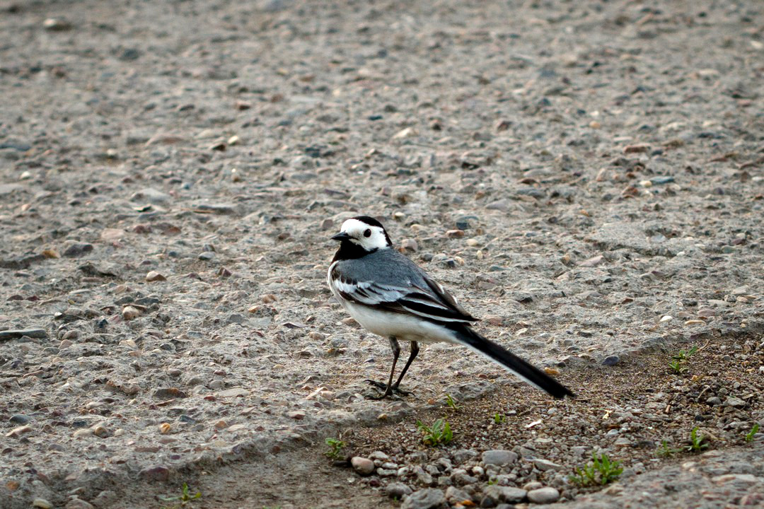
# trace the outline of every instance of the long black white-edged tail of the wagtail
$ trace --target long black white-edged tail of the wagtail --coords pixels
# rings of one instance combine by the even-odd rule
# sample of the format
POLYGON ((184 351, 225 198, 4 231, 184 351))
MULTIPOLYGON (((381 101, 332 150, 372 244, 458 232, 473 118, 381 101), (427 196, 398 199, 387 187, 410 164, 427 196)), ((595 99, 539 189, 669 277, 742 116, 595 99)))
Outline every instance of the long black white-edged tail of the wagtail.
POLYGON ((448 324, 446 327, 454 331, 455 340, 459 343, 499 363, 529 384, 536 385, 536 387, 549 392, 555 398, 563 398, 565 396, 575 397, 575 394, 565 385, 552 379, 551 376, 542 372, 536 366, 520 359, 520 357, 511 353, 503 346, 482 337, 465 324, 448 324))

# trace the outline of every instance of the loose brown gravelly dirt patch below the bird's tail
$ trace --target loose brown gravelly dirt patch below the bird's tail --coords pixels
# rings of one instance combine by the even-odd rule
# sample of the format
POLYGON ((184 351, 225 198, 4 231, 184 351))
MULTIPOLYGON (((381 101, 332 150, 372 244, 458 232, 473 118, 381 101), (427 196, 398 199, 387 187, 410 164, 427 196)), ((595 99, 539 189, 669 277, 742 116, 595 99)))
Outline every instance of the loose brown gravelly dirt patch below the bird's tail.
MULTIPOLYGON (((390 427, 347 430, 342 437, 360 456, 380 450, 401 466, 410 465, 413 457, 424 464, 446 457, 454 469, 468 472, 480 462, 479 453, 512 449, 520 460, 503 472, 512 479, 505 484, 538 481, 558 488, 563 501, 572 499, 593 489, 568 480, 591 460, 593 451, 622 462, 622 478, 627 479, 659 469, 667 460, 683 461, 707 449, 746 443, 746 433, 764 415, 759 383, 764 343, 760 337, 728 337, 696 346, 696 352, 678 362, 675 357, 684 357, 680 352, 688 353, 691 346, 630 356, 615 366, 563 372, 562 382, 578 393, 573 400, 553 401, 523 385, 502 387, 476 401, 457 402, 458 410, 441 398, 442 407, 436 410, 417 411, 390 427), (450 424, 453 442, 438 449, 422 445, 416 420, 431 424, 441 417, 450 424), (696 427, 698 443, 692 450, 691 430, 696 427), (478 454, 460 466, 453 453, 461 449, 478 454), (542 463, 539 468, 534 465, 538 459, 555 466, 544 468, 542 463)), ((443 477, 449 473, 443 472, 443 477)), ((484 483, 496 478, 478 478, 478 486, 468 486, 467 491, 477 494, 474 501, 479 503, 484 483)), ((421 487, 413 474, 403 480, 421 487)), ((439 482, 436 475, 433 485, 439 482)))

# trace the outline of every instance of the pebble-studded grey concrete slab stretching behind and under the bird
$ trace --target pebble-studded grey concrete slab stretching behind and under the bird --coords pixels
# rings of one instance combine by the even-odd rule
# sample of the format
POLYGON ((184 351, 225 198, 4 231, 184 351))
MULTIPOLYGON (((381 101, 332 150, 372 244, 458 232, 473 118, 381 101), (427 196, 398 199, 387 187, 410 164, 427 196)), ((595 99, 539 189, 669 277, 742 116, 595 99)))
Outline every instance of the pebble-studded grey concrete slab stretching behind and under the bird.
POLYGON ((762 26, 703 0, 2 0, 0 507, 106 507, 446 393, 543 398, 451 346, 415 396, 364 398, 389 346, 325 288, 359 213, 563 379, 759 344, 762 26))

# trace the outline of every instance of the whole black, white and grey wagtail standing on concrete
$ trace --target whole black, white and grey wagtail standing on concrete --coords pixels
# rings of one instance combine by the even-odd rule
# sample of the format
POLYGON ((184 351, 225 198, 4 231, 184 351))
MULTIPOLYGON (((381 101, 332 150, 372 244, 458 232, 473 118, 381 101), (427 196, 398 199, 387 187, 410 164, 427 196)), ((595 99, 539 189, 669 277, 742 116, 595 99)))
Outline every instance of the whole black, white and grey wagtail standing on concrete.
POLYGON ((338 240, 340 246, 329 266, 329 288, 355 321, 369 332, 387 337, 393 349, 393 368, 387 384, 369 380, 384 389, 380 398, 393 392, 410 394, 399 386, 419 353, 420 341, 467 346, 555 398, 573 396, 549 375, 472 330, 470 325, 478 319, 442 285, 394 250, 387 231, 374 217, 348 219, 332 240, 338 240), (398 340, 411 342, 411 355, 393 384, 400 356, 398 340))

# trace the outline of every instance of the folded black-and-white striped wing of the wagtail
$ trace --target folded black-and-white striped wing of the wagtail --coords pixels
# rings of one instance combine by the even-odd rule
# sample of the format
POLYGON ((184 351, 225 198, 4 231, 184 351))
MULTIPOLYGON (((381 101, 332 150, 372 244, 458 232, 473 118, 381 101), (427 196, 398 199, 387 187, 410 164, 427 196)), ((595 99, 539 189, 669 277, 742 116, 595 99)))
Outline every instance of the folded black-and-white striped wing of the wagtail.
MULTIPOLYGON (((418 267, 417 267, 418 269, 418 267)), ((332 282, 342 298, 370 308, 396 313, 415 314, 432 321, 468 323, 478 321, 438 282, 417 270, 421 279, 408 285, 393 285, 390 282, 363 281, 351 278, 342 272, 339 264, 332 269, 332 282)))

